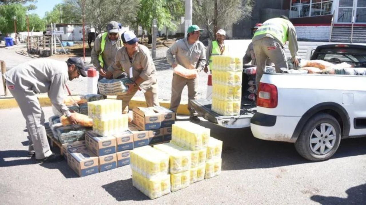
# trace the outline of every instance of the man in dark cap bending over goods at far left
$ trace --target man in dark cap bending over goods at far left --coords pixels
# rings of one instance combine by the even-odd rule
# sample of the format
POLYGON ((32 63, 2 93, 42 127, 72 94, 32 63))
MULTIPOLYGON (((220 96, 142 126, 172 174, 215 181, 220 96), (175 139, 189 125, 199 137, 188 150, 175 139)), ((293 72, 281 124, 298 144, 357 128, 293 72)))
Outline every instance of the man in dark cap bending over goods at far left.
POLYGON ((84 63, 80 58, 69 58, 66 62, 53 59, 37 59, 22 63, 7 71, 6 85, 18 102, 26 120, 29 134, 28 156, 36 156, 36 162, 57 162, 62 156, 53 154, 44 127, 45 116, 38 101, 38 93, 48 93, 51 103, 72 124, 77 120, 64 104, 64 88, 68 80, 86 77, 84 63))

